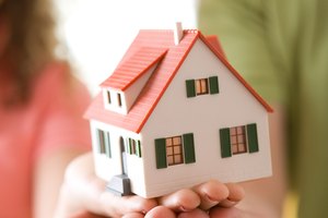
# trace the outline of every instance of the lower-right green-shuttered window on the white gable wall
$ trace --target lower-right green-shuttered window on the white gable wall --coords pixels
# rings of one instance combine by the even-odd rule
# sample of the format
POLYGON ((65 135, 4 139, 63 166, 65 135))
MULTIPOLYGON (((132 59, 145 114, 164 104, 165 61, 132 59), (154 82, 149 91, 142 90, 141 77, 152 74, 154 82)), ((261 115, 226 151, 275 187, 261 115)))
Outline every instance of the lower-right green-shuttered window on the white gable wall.
POLYGON ((256 123, 225 128, 220 130, 221 157, 231 157, 232 155, 257 153, 258 138, 256 123))

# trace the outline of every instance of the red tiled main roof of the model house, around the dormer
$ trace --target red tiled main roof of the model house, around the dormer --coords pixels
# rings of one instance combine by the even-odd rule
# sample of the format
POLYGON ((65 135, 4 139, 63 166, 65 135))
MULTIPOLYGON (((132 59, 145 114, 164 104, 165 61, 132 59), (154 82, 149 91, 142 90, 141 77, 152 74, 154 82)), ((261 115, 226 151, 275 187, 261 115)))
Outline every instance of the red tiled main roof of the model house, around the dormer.
MULTIPOLYGON (((216 55, 222 63, 225 64, 235 77, 239 80, 239 82, 267 109, 267 111, 272 112, 272 108, 246 83, 246 81, 226 61, 224 56, 220 53, 220 51, 212 46, 199 31, 184 31, 184 37, 177 46, 174 45, 173 31, 140 31, 122 58, 118 69, 124 68, 127 62, 131 62, 131 60, 137 60, 134 55, 140 52, 147 55, 143 48, 153 48, 155 53, 154 56, 147 57, 144 59, 147 61, 143 62, 143 68, 150 68, 151 64, 154 64, 160 60, 161 62, 141 90, 134 105, 131 107, 128 114, 109 111, 104 107, 102 94, 98 94, 86 110, 85 117, 139 133, 175 76, 179 66, 183 64, 195 41, 199 38, 212 50, 213 53, 216 55)), ((115 71, 112 78, 116 77, 119 82, 114 83, 112 82, 114 80, 109 80, 104 82, 102 85, 107 86, 115 84, 117 88, 124 89, 129 84, 133 83, 133 81, 140 76, 140 73, 147 71, 142 69, 142 66, 138 66, 136 69, 136 73, 133 72, 133 75, 126 80, 119 80, 120 76, 118 75, 121 75, 122 72, 115 71)))

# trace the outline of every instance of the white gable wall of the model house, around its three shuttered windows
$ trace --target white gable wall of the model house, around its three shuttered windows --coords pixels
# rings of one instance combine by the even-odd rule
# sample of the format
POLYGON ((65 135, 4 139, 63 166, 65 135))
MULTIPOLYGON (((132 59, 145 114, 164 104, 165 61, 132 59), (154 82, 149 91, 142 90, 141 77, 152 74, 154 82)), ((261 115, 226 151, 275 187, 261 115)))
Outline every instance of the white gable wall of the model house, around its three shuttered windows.
POLYGON ((209 179, 238 182, 271 174, 266 109, 200 39, 141 131, 149 195, 209 179), (185 81, 218 75, 220 94, 186 97, 185 81), (259 153, 221 158, 219 130, 257 123, 259 153), (156 169, 154 138, 194 133, 196 162, 156 169))

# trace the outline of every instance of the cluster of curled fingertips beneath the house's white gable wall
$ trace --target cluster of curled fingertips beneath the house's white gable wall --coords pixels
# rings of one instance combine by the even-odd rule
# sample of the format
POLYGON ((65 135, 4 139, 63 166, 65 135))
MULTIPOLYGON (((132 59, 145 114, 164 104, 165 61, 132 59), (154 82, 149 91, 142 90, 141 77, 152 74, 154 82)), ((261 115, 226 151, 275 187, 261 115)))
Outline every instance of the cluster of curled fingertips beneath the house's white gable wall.
POLYGON ((211 180, 192 189, 185 189, 173 194, 160 197, 161 206, 151 209, 149 218, 229 218, 242 210, 234 206, 244 198, 244 189, 241 185, 223 184, 211 180), (165 213, 165 216, 164 216, 165 213))

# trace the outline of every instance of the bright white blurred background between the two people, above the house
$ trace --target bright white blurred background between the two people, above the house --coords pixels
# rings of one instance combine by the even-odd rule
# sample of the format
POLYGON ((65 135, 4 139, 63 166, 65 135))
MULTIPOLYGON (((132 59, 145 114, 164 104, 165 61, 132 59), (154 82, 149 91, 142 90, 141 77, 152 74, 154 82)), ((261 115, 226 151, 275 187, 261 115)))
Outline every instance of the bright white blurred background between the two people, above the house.
POLYGON ((197 27, 199 0, 55 0, 57 53, 69 58, 92 95, 115 70, 140 28, 197 27))

